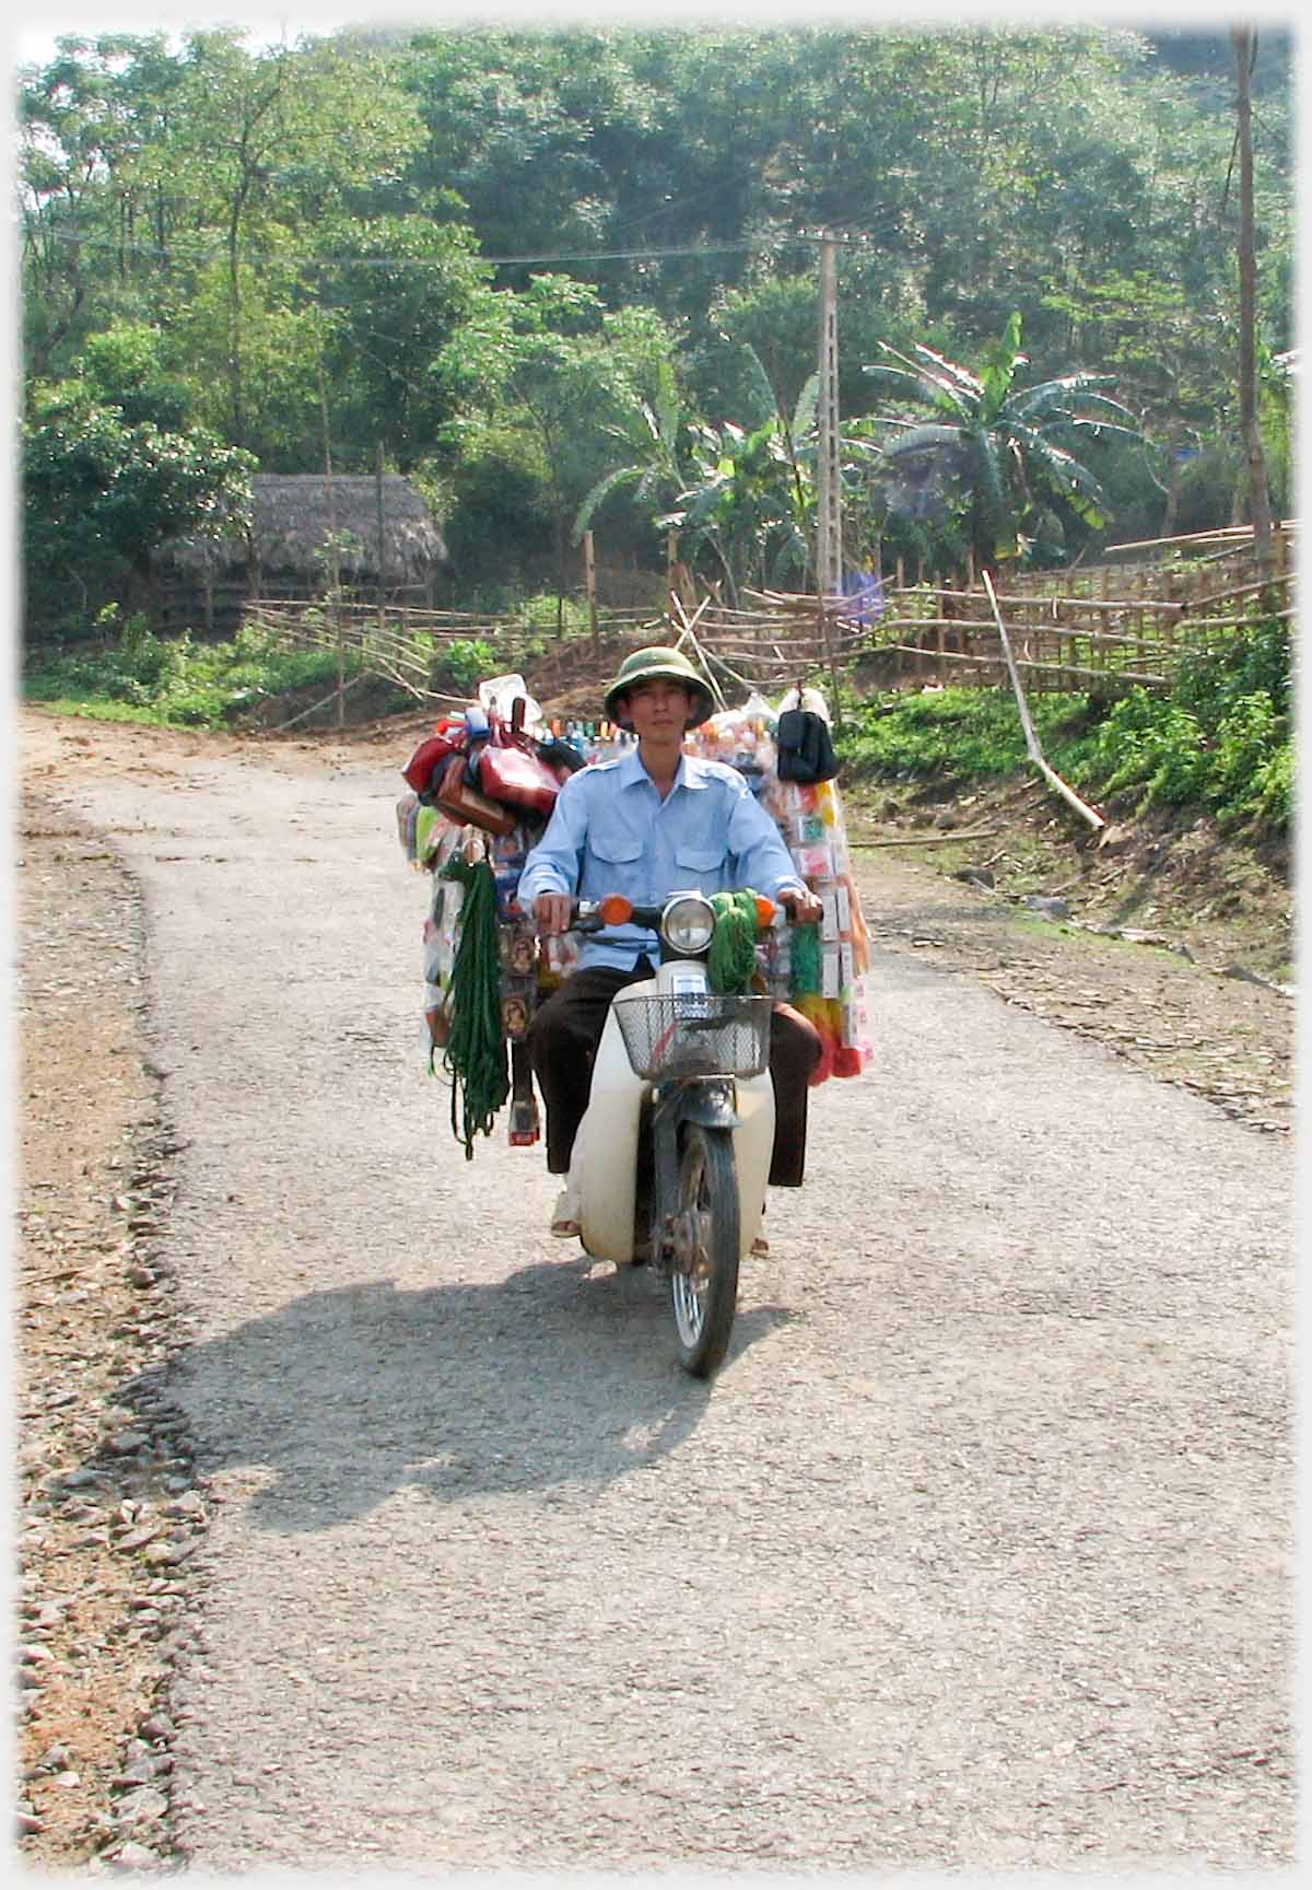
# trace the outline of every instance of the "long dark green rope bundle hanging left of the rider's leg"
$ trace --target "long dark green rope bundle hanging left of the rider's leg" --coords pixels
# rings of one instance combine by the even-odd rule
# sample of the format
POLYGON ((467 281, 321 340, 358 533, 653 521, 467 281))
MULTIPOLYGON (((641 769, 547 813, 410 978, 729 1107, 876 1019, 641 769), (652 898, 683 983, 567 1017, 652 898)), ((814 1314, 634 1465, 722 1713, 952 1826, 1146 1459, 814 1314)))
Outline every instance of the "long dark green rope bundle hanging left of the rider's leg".
POLYGON ((486 860, 469 864, 459 854, 452 854, 440 877, 456 879, 465 888, 452 964, 450 1036, 442 1064, 452 1077, 452 1134, 465 1143, 465 1160, 471 1162, 475 1136, 492 1134, 497 1109, 510 1094, 501 1024, 497 883, 486 860))

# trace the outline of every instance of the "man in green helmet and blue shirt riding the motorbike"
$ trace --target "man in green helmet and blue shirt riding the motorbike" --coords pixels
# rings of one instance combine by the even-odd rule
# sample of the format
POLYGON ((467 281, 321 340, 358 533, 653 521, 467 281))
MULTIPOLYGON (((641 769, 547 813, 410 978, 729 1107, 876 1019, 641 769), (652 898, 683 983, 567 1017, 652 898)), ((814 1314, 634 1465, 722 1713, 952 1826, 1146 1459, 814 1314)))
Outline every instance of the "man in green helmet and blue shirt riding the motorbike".
MULTIPOLYGON (((684 733, 713 707, 709 688, 681 650, 647 648, 624 660, 607 690, 605 714, 637 733, 637 747, 565 781, 520 879, 520 905, 533 913, 543 937, 569 930, 575 900, 609 892, 656 905, 671 892, 751 888, 783 905, 794 924, 820 919, 820 900, 798 877, 779 828, 737 769, 684 754, 684 733)), ((533 1019, 529 1055, 546 1104, 552 1174, 569 1170, 611 1000, 650 977, 656 947, 656 936, 639 926, 588 937, 578 970, 533 1019)), ((777 1004, 769 1040, 773 1187, 802 1185, 807 1083, 820 1055, 807 1019, 777 1004)), ((554 1230, 577 1232, 560 1213, 554 1230)))

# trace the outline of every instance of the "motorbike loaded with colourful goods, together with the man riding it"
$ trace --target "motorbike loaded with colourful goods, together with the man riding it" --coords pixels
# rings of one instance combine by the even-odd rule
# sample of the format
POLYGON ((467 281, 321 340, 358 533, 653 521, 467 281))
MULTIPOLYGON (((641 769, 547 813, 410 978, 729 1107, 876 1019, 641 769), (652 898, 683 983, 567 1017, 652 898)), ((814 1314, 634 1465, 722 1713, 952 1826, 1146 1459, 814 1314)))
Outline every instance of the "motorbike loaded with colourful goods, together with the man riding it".
POLYGON ((509 1102, 510 1142, 537 1142, 541 1089, 552 1232, 667 1276, 698 1376, 766 1251, 766 1187, 802 1185, 807 1089, 870 1060, 824 703, 713 709, 677 648, 626 658, 586 726, 497 677, 420 745, 397 807, 433 875, 429 1068, 456 1138, 473 1159, 509 1102))

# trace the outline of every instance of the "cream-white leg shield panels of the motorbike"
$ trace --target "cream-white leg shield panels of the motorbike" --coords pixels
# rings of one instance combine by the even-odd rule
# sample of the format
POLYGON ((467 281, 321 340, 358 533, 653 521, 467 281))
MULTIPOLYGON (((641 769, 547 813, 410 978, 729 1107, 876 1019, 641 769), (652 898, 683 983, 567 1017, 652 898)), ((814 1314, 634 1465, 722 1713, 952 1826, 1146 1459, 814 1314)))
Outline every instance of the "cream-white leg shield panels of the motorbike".
MULTIPOLYGON (((652 979, 626 985, 626 998, 709 990, 705 964, 662 964, 652 979)), ((732 1077, 735 1092, 734 1162, 739 1193, 739 1259, 760 1234, 766 1208, 769 1155, 775 1140, 775 1091, 762 1075, 732 1077)), ((614 1004, 605 1021, 592 1066, 588 1109, 575 1142, 571 1193, 578 1196, 582 1246, 616 1266, 633 1263, 633 1211, 637 1194, 637 1151, 643 1102, 652 1085, 637 1075, 624 1047, 614 1004)))

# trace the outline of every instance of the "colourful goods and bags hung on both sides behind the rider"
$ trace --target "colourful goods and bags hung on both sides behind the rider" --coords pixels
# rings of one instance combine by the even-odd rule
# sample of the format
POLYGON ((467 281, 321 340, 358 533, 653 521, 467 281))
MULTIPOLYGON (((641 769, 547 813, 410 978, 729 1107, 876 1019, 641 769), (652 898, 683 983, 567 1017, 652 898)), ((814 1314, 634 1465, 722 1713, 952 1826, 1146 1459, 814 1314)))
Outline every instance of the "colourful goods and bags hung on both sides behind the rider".
MULTIPOLYGON (((403 769, 410 792, 397 803, 401 847, 416 871, 431 875, 423 920, 429 1068, 450 1040, 469 869, 486 862, 495 890, 495 941, 484 939, 475 951, 478 941, 471 937, 465 979, 476 983, 480 958, 486 973, 495 951, 501 1043, 493 1055, 505 1062, 509 1049, 514 1070, 501 1094, 501 1102, 512 1098, 512 1145, 531 1145, 541 1134, 527 1060, 514 1051, 526 1041, 541 1000, 578 962, 577 934, 535 936, 531 915, 516 903, 520 873, 546 828, 560 784, 631 745, 631 731, 605 716, 548 720, 527 694, 524 677, 507 675, 482 682, 461 714, 439 718, 403 769)), ((754 983, 792 1002, 819 1030, 822 1057, 811 1074, 813 1085, 830 1075, 858 1075, 873 1055, 864 988, 870 941, 851 868, 824 697, 819 690, 794 688, 771 707, 752 692, 741 707, 724 709, 690 730, 684 748, 728 764, 745 779, 775 820, 798 877, 820 898, 819 922, 762 934, 754 983)), ((493 1032, 486 1036, 492 1045, 493 1032)), ((490 1132, 492 1123, 480 1126, 490 1132)), ((463 1140, 471 1155, 471 1140, 463 1140)))

